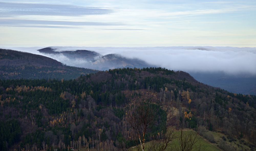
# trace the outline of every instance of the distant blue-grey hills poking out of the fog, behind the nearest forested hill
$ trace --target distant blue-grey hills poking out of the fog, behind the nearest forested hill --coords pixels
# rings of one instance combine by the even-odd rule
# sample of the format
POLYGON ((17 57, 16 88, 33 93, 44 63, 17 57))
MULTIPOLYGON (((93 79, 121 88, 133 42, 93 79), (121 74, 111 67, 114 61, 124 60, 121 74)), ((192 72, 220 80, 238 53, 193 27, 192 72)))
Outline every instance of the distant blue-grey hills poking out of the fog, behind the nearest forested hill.
POLYGON ((154 65, 148 64, 140 59, 130 59, 121 56, 120 54, 107 54, 100 55, 97 52, 89 51, 89 50, 76 50, 76 51, 55 51, 51 47, 39 49, 38 51, 45 54, 51 55, 63 55, 69 59, 68 62, 64 62, 66 64, 84 67, 84 68, 92 68, 96 70, 109 70, 115 68, 143 68, 143 67, 155 67, 154 65))

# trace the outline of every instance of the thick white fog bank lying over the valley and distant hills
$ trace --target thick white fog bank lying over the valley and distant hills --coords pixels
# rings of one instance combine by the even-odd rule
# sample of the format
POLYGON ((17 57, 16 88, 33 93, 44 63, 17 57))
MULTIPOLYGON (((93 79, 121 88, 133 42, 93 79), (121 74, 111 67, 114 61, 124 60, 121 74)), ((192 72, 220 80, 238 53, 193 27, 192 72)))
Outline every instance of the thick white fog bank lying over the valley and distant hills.
MULTIPOLYGON (((40 54, 38 49, 10 48, 40 54)), ((106 55, 121 54, 127 58, 138 58, 149 64, 186 72, 225 72, 227 74, 256 75, 256 48, 237 47, 52 47, 55 51, 91 50, 106 55)), ((45 54, 41 54, 46 56, 45 54)), ((67 65, 84 64, 86 61, 70 60, 65 56, 49 56, 67 65)), ((80 66, 81 67, 81 66, 80 66)))

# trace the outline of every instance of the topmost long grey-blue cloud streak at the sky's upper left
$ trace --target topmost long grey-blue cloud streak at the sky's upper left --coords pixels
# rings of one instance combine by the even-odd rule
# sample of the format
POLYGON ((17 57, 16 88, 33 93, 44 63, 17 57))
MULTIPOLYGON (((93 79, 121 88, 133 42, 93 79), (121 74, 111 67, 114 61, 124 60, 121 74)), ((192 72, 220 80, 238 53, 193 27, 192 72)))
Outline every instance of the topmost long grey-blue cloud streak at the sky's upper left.
POLYGON ((46 15, 46 16, 83 16, 113 13, 114 9, 81 7, 73 5, 51 5, 31 3, 0 2, 1 16, 46 15))

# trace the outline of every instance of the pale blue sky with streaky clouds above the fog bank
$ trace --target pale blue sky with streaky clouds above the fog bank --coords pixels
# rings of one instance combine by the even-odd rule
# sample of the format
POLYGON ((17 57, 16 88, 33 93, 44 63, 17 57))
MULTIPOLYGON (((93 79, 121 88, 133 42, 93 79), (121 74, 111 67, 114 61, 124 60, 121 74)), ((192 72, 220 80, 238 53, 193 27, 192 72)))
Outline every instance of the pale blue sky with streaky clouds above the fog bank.
POLYGON ((256 47, 256 1, 0 0, 0 46, 256 47))

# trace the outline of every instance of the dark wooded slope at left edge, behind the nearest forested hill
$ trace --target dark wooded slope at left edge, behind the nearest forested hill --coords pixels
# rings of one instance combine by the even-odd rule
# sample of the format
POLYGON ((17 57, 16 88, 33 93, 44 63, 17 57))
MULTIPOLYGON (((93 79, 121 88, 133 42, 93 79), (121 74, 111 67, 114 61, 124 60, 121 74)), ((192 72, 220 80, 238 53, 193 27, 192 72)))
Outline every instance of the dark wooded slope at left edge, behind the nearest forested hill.
POLYGON ((97 70, 70 67, 49 57, 0 49, 0 79, 74 79, 97 70))

